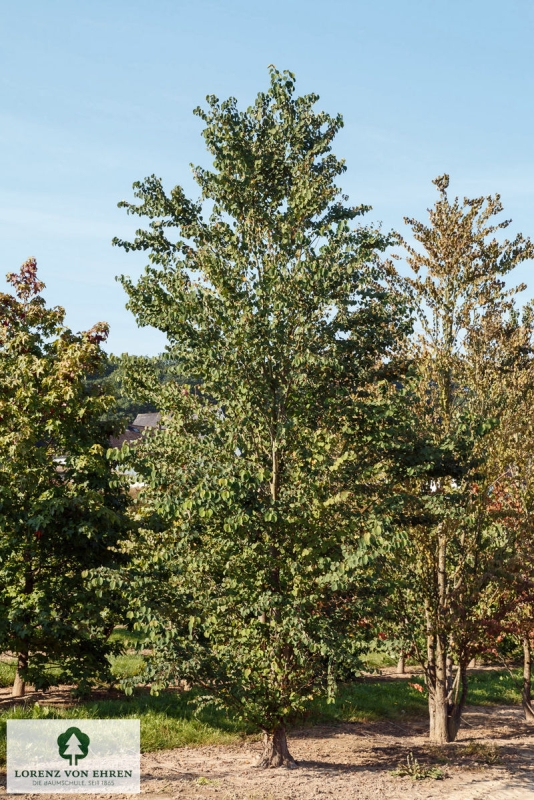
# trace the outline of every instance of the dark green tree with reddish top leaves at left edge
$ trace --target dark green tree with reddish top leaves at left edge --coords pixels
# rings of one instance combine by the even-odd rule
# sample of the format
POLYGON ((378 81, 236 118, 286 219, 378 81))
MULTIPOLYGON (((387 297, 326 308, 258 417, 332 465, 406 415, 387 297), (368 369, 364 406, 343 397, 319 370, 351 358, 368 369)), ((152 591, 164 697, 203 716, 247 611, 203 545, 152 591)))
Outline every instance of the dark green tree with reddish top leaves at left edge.
POLYGON ((106 575, 125 562, 127 493, 106 458, 100 418, 113 404, 89 392, 106 362, 107 326, 78 335, 47 308, 35 259, 0 294, 0 646, 25 681, 86 685, 108 675, 117 600, 106 575), (52 668, 57 672, 52 674, 52 668))

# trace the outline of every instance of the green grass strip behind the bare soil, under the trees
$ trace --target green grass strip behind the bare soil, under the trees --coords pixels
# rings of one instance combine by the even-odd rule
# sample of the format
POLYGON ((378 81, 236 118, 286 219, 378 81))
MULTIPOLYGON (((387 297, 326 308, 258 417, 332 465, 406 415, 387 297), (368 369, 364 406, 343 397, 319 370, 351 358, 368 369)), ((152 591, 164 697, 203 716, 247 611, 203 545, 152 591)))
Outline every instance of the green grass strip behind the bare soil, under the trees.
MULTIPOLYGON (((116 673, 132 674, 140 667, 139 656, 120 656, 114 664, 116 673), (136 660, 137 659, 137 660, 136 660)), ((0 664, 4 671, 9 665, 0 664)), ((11 682, 11 681, 10 681, 11 682)), ((468 702, 472 705, 517 705, 517 685, 504 672, 488 671, 469 676, 468 702)), ((413 680, 356 681, 339 687, 334 704, 316 700, 304 722, 366 722, 377 719, 402 720, 427 713, 426 693, 412 684, 413 680)), ((69 708, 46 705, 18 705, 0 713, 0 763, 5 763, 5 731, 7 719, 140 719, 143 752, 166 750, 186 745, 230 744, 254 730, 231 715, 205 708, 195 715, 191 703, 193 692, 163 692, 157 697, 147 693, 119 699, 87 701, 69 708)))

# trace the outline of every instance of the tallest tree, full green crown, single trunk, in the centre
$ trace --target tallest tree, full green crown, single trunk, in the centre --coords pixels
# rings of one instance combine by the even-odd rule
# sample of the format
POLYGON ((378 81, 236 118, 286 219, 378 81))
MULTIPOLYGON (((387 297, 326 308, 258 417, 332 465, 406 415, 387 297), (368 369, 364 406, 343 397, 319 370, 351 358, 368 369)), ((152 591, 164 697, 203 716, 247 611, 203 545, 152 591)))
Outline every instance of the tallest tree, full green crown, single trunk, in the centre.
POLYGON ((287 723, 356 662, 347 587, 381 537, 409 328, 376 258, 388 237, 353 227, 367 209, 335 184, 342 119, 317 99, 274 68, 245 112, 208 97, 201 201, 136 183, 140 204, 120 205, 150 226, 115 240, 149 252, 122 283, 175 363, 152 388, 137 372, 164 418, 134 453, 148 488, 131 615, 152 631, 154 685, 187 679, 257 725, 262 766, 294 764, 287 723))

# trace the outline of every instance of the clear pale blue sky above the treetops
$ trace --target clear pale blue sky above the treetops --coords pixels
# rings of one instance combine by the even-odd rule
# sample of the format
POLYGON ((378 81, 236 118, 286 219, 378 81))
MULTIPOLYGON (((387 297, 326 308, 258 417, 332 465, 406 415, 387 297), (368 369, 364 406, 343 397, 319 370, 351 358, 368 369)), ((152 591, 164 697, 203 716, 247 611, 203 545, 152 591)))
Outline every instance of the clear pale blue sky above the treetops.
MULTIPOLYGON (((208 164, 192 109, 243 106, 267 66, 341 112, 343 188, 369 222, 403 229, 449 172, 460 196, 500 192, 510 231, 534 237, 531 0, 13 0, 0 2, 1 270, 30 255, 75 330, 111 325, 109 350, 156 354, 115 276, 145 259, 111 247, 117 209, 155 173, 195 194, 208 164)), ((534 296, 533 264, 517 270, 534 296)), ((0 284, 1 286, 1 284, 0 284)))

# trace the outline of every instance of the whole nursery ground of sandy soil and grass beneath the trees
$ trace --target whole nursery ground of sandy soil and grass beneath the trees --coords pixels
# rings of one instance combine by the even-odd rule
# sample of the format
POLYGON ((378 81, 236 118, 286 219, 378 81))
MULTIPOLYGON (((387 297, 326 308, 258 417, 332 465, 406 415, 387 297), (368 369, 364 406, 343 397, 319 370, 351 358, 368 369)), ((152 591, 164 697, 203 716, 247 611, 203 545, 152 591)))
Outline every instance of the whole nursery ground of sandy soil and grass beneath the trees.
MULTIPOLYGON (((137 656, 117 659, 117 677, 131 674, 137 656)), ((9 677, 3 665, 2 678, 9 677)), ((139 691, 125 697, 117 689, 96 690, 85 701, 68 687, 28 693, 13 703, 0 690, 2 766, 6 720, 13 718, 139 718, 144 793, 162 800, 219 797, 272 800, 274 797, 372 798, 394 800, 491 796, 527 798, 534 786, 534 742, 524 723, 513 677, 485 668, 469 676, 470 705, 458 740, 438 747, 428 740, 426 697, 416 687, 421 676, 383 670, 342 685, 334 704, 316 701, 295 721, 290 748, 299 768, 254 770, 260 737, 230 715, 204 709, 195 713, 194 691, 139 691), (526 792, 526 794, 525 794, 526 792)))

